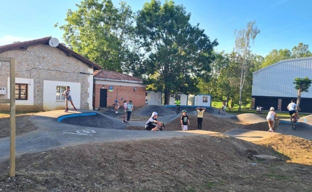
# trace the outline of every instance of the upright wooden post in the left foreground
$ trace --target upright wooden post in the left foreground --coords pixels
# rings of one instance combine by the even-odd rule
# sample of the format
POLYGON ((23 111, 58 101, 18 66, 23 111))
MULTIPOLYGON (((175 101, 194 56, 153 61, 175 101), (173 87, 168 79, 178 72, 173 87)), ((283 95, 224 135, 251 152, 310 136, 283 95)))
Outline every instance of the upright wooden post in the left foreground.
POLYGON ((15 177, 15 126, 15 59, 10 58, 10 177, 15 177))

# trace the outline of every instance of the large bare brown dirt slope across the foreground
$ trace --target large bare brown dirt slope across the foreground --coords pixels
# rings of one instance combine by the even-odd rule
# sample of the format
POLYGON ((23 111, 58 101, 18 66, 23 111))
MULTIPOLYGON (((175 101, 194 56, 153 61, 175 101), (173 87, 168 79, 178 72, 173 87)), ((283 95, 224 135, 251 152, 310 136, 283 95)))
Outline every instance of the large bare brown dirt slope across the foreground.
POLYGON ((3 162, 0 186, 5 192, 310 192, 311 164, 287 162, 297 155, 309 160, 311 147, 282 135, 258 145, 227 136, 93 143, 25 154, 16 160, 15 178, 3 162), (297 142, 307 148, 295 148, 297 142), (298 150, 286 156, 287 146, 298 150), (255 158, 262 154, 279 161, 255 158))

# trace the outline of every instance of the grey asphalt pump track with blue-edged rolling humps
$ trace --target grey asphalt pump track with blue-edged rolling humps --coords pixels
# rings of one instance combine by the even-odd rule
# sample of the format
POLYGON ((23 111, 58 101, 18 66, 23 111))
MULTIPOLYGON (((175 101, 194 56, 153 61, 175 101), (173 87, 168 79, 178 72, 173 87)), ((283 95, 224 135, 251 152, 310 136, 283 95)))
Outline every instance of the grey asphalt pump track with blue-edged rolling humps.
MULTIPOLYGON (((180 110, 187 110, 188 114, 195 115, 195 107, 185 106, 180 110)), ((122 124, 118 117, 122 112, 114 115, 112 110, 101 113, 92 110, 78 110, 64 113, 63 110, 39 112, 29 118, 38 127, 37 130, 18 135, 15 138, 15 155, 26 153, 43 152, 55 148, 70 147, 87 143, 113 142, 125 140, 142 140, 157 138, 174 138, 191 135, 215 135, 221 134, 210 131, 142 131, 126 130, 126 126, 144 126, 151 113, 156 111, 157 118, 165 124, 171 122, 179 115, 175 114, 175 106, 145 105, 132 112, 135 116, 142 116, 144 121, 132 121, 130 124, 122 124)), ((207 108, 206 112, 223 118, 236 119, 245 123, 258 123, 266 121, 255 114, 218 114, 218 109, 207 108)), ((264 131, 250 131, 244 129, 232 129, 223 135, 228 135, 246 141, 257 141, 272 137, 274 134, 287 134, 312 140, 312 115, 302 117, 298 121, 295 130, 292 130, 288 119, 280 120, 279 126, 275 128, 275 133, 264 131)), ((1 138, 0 161, 9 158, 10 138, 1 138)))

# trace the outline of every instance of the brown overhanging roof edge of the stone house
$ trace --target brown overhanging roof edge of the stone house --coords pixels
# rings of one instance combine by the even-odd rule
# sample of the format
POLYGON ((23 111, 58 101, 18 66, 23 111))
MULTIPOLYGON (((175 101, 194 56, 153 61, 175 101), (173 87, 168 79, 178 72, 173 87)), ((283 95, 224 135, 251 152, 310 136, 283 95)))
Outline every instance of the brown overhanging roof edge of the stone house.
MULTIPOLYGON (((0 46, 0 53, 2 53, 4 51, 9 51, 9 50, 26 50, 29 46, 36 45, 36 44, 47 44, 48 45, 48 42, 51 38, 52 37, 49 36, 49 37, 34 39, 34 40, 30 40, 30 41, 15 42, 12 44, 2 45, 2 46, 0 46)), ((89 59, 83 57, 82 55, 74 52, 73 50, 67 48, 65 45, 63 45, 61 43, 59 43, 56 48, 59 48, 60 50, 62 50, 67 56, 74 57, 74 58, 80 60, 81 62, 83 62, 84 64, 88 65, 89 67, 93 67, 94 70, 98 70, 98 69, 102 68, 98 64, 96 64, 96 63, 90 61, 89 59)))

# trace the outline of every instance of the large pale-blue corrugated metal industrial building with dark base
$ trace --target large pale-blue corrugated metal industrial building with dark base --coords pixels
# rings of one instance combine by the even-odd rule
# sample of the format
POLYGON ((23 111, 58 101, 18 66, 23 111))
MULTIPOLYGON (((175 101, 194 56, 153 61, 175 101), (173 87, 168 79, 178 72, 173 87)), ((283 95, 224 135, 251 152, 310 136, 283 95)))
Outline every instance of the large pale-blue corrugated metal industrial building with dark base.
MULTIPOLYGON (((296 77, 312 79, 312 57, 284 59, 253 72, 252 107, 268 110, 287 111, 291 99, 297 98, 293 84, 296 77)), ((301 112, 312 113, 312 86, 301 94, 301 112)))

